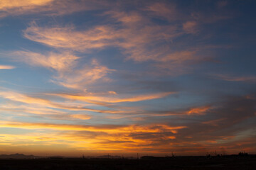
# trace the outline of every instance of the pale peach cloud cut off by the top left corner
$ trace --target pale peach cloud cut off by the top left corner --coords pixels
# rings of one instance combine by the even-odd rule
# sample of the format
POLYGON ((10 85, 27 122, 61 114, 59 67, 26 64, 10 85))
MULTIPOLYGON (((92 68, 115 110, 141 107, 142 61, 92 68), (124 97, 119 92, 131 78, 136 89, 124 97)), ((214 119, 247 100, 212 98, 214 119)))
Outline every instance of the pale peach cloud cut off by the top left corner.
POLYGON ((105 1, 70 1, 70 0, 1 0, 0 18, 6 16, 40 13, 43 15, 60 16, 78 11, 88 11, 109 6, 105 1))

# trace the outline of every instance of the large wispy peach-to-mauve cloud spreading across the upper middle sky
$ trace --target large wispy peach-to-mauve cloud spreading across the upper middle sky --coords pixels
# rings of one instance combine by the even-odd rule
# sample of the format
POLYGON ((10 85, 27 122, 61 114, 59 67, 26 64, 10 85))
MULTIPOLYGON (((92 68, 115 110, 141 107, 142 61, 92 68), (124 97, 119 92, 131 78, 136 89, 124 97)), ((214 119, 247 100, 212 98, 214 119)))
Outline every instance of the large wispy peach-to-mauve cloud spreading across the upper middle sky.
MULTIPOLYGON (((23 30, 23 36, 55 50, 87 54, 115 47, 122 53, 124 60, 151 62, 150 67, 159 70, 154 74, 184 74, 191 72, 191 65, 194 63, 210 62, 204 54, 209 50, 208 47, 198 49, 196 44, 181 42, 186 34, 200 35, 201 27, 205 23, 201 13, 192 13, 187 17, 186 14, 177 15, 176 5, 164 2, 146 3, 145 6, 131 11, 110 8, 101 15, 103 18, 107 17, 110 24, 99 23, 83 30, 70 25, 38 26, 36 22, 32 22, 23 30), (168 23, 159 25, 154 21, 154 18, 159 17, 165 18, 168 23)), ((70 89, 87 89, 81 85, 83 83, 71 84, 68 79, 66 77, 66 80, 53 82, 70 89)))

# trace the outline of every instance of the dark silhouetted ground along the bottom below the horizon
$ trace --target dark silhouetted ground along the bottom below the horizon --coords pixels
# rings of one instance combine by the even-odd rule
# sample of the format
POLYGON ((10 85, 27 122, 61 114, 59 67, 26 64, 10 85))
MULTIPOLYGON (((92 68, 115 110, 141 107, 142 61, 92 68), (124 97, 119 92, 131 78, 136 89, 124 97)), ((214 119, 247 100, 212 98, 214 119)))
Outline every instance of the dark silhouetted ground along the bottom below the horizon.
POLYGON ((46 169, 256 169, 256 157, 169 157, 161 159, 0 159, 1 170, 46 169))

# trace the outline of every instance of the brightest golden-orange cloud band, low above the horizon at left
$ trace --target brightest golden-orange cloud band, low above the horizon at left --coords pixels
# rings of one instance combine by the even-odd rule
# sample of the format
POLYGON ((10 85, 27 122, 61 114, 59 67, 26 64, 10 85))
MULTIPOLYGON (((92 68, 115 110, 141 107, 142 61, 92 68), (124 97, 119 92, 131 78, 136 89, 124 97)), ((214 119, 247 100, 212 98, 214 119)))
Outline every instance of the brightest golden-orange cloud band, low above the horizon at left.
MULTIPOLYGON (((33 130, 25 135, 4 135, 3 142, 11 142, 13 146, 23 145, 16 142, 27 139, 28 145, 40 143, 53 145, 59 143, 75 149, 90 151, 122 151, 135 152, 142 149, 151 150, 152 145, 166 147, 166 143, 175 140, 179 130, 186 126, 154 125, 67 125, 50 123, 23 123, 0 121, 1 128, 18 128, 33 130), (40 130, 40 132, 37 132, 40 130), (50 132, 49 132, 50 130, 50 132), (35 135, 34 135, 35 133, 35 135), (14 140, 16 137, 16 140, 14 140), (86 143, 86 145, 85 145, 86 143)), ((157 151, 156 151, 157 152, 157 151)))

